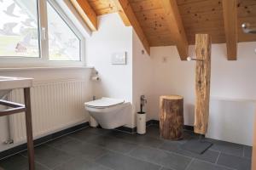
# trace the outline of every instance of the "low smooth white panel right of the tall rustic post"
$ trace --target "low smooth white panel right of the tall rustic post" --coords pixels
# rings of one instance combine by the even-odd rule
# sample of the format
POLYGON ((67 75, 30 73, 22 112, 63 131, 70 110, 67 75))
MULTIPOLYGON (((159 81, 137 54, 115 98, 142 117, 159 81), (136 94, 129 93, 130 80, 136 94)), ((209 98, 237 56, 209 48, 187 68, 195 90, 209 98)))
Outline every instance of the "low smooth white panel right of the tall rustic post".
POLYGON ((255 101, 212 98, 207 138, 253 144, 255 101))

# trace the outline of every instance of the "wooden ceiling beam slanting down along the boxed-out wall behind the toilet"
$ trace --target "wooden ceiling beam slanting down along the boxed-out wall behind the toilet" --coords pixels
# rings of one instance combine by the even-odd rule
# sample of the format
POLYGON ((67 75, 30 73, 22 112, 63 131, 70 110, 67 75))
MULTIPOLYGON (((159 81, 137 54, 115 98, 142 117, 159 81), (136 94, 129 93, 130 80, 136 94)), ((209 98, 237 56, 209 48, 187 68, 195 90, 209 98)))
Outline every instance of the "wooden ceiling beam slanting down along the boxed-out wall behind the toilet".
POLYGON ((134 14, 131 4, 128 0, 112 0, 117 8, 119 16, 123 20, 125 26, 132 26, 134 31, 136 31, 137 36, 143 43, 143 47, 145 48, 148 55, 150 55, 150 46, 146 35, 143 32, 142 27, 140 26, 136 15, 134 14))

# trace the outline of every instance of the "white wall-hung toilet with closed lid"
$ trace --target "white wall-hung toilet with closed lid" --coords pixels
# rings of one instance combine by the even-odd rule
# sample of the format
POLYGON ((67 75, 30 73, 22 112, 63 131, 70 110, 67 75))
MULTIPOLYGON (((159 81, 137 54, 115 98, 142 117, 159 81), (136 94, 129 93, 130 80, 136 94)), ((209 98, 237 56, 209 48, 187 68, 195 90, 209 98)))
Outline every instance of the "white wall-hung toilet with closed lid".
POLYGON ((84 106, 90 116, 106 129, 124 126, 131 117, 131 103, 124 99, 96 99, 84 103, 84 106))

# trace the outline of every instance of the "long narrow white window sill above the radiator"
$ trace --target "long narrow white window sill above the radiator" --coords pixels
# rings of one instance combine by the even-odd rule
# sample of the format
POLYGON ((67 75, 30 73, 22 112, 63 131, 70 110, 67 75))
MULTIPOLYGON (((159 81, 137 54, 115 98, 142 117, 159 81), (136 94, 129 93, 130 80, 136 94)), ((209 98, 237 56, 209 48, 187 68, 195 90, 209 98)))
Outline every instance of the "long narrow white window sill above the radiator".
POLYGON ((40 71, 40 70, 76 70, 76 69, 93 69, 93 66, 45 66, 45 67, 7 67, 7 68, 0 68, 0 71, 40 71))

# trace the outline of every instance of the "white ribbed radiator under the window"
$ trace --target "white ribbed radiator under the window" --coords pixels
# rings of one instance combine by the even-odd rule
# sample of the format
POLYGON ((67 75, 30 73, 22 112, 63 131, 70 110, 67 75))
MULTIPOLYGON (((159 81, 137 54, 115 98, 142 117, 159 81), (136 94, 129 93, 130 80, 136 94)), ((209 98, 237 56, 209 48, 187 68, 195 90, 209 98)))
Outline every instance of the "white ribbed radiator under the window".
MULTIPOLYGON (((84 122, 86 88, 85 81, 80 80, 36 82, 31 88, 34 138, 84 122)), ((9 100, 24 103, 23 89, 13 90, 9 100)), ((24 113, 9 116, 9 131, 15 144, 26 141, 24 113)))

